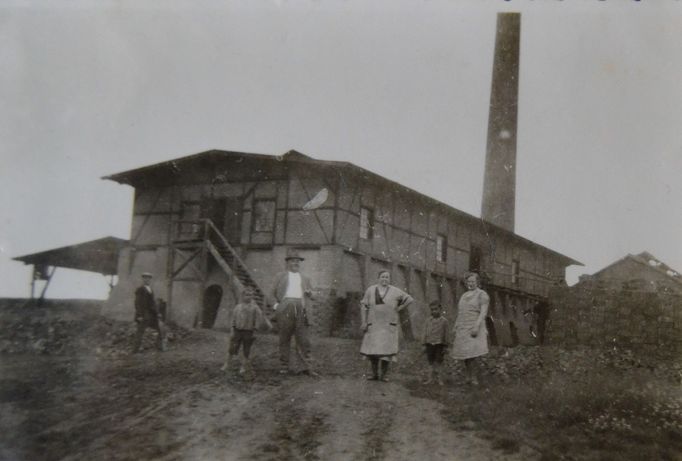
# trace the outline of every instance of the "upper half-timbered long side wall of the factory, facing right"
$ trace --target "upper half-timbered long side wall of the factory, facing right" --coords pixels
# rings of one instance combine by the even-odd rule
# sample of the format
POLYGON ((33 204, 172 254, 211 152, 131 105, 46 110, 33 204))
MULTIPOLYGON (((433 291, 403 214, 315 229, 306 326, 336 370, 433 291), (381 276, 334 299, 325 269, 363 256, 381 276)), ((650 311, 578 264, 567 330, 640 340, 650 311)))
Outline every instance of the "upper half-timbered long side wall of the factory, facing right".
POLYGON ((481 269, 495 285, 546 296, 563 276, 557 257, 533 245, 517 241, 481 221, 456 216, 442 206, 409 192, 373 184, 345 181, 339 191, 337 243, 344 248, 410 267, 462 277, 470 268, 472 247, 481 250, 481 269), (370 238, 360 235, 361 208, 374 218, 370 238), (444 238, 445 261, 437 261, 437 238, 444 238), (512 261, 519 273, 512 283, 512 261))

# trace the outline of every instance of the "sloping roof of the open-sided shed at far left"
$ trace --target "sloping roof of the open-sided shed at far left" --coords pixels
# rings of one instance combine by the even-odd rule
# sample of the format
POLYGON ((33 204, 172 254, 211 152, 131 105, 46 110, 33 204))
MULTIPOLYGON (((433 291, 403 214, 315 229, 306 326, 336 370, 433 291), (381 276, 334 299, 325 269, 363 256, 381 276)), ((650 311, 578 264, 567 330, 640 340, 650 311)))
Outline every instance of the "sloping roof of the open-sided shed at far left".
POLYGON ((77 243, 52 250, 41 251, 13 258, 24 264, 36 266, 65 267, 104 275, 116 275, 118 254, 128 245, 128 240, 104 237, 89 242, 77 243))

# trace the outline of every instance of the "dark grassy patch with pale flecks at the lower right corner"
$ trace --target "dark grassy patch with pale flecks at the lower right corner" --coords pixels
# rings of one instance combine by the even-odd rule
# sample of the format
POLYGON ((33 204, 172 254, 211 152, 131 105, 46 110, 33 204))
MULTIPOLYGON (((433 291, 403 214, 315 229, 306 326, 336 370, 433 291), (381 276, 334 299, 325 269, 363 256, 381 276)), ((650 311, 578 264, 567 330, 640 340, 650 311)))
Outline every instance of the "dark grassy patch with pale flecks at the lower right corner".
POLYGON ((646 368, 580 365, 587 373, 545 367, 535 376, 499 379, 484 372, 482 385, 461 392, 414 382, 408 387, 413 395, 442 402, 445 419, 455 427, 464 421, 483 430, 506 453, 522 441, 545 460, 682 459, 679 383, 646 368))

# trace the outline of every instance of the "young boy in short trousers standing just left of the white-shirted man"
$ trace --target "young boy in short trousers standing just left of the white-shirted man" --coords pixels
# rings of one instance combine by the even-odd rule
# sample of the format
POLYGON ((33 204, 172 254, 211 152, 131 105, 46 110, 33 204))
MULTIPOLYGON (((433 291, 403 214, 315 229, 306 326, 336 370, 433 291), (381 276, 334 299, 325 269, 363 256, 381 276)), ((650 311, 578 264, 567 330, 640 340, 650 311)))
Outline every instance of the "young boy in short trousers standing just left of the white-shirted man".
POLYGON ((239 353, 240 347, 243 346, 244 361, 239 369, 239 374, 244 374, 247 378, 253 377, 253 369, 249 361, 251 353, 251 345, 255 341, 253 333, 262 325, 268 329, 272 329, 272 324, 263 315, 263 312, 253 299, 253 289, 245 288, 242 293, 242 302, 237 304, 232 313, 232 336, 230 337, 230 347, 228 349, 228 356, 225 364, 221 370, 226 371, 230 369, 230 363, 239 353))

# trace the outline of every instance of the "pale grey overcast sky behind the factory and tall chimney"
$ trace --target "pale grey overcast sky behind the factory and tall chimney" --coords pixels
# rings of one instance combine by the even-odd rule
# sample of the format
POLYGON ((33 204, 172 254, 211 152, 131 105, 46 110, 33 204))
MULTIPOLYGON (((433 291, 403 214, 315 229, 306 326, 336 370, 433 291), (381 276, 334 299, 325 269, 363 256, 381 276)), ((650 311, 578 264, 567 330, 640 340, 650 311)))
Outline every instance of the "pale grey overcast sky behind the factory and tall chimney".
MULTIPOLYGON (((480 215, 496 13, 520 11, 516 231, 682 270, 682 2, 0 5, 0 296, 12 257, 130 237, 101 176, 211 148, 355 163, 480 215)), ((58 270, 52 297, 100 297, 58 270)))

